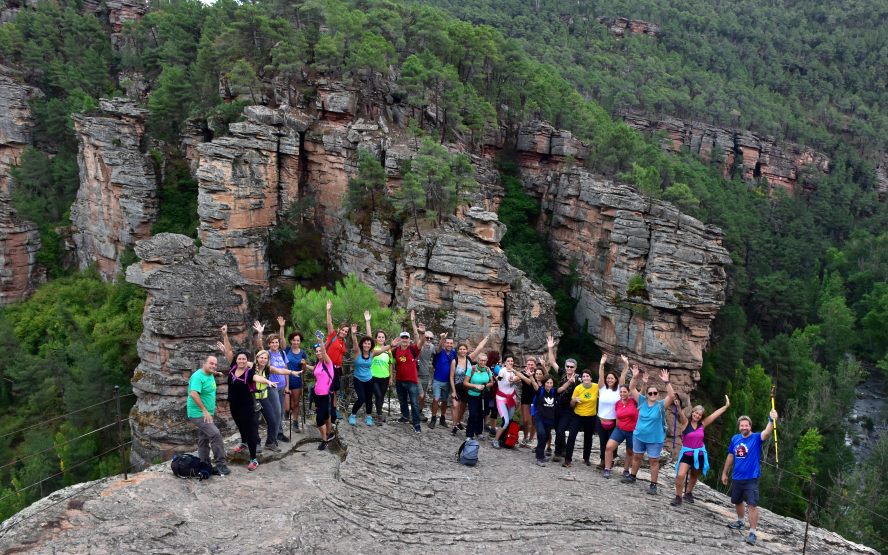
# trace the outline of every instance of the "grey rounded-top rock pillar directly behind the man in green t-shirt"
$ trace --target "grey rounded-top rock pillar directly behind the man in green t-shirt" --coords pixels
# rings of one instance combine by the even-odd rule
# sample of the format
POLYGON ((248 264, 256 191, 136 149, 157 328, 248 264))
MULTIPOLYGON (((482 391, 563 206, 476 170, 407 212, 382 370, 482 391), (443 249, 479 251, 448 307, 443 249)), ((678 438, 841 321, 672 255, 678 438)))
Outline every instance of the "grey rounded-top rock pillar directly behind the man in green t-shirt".
MULTIPOLYGON (((188 380, 209 355, 227 363, 215 343, 227 325, 232 343, 247 338, 246 281, 230 255, 201 248, 184 235, 160 233, 136 243, 138 264, 126 279, 148 291, 138 351, 141 362, 133 374, 136 404, 130 412, 132 462, 144 467, 191 449, 196 429, 188 424, 185 399, 188 380)), ((233 431, 227 386, 217 378, 216 425, 233 431)))

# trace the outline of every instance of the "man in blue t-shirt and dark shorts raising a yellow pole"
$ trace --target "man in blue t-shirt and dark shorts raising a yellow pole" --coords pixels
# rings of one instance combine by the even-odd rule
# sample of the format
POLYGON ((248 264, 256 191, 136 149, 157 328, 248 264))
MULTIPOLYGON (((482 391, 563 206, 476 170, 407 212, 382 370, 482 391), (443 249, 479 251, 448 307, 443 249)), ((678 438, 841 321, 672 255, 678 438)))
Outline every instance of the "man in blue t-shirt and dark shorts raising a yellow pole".
POLYGON ((752 433, 752 420, 748 416, 737 419, 740 433, 731 438, 728 457, 722 470, 722 484, 728 485, 728 471, 733 466, 731 479, 731 503, 737 509, 737 520, 728 524, 733 530, 743 529, 743 501, 749 505, 749 535, 746 543, 755 545, 755 531, 758 526, 758 478, 761 474, 762 442, 771 437, 777 411, 772 410, 768 425, 761 433, 752 433))

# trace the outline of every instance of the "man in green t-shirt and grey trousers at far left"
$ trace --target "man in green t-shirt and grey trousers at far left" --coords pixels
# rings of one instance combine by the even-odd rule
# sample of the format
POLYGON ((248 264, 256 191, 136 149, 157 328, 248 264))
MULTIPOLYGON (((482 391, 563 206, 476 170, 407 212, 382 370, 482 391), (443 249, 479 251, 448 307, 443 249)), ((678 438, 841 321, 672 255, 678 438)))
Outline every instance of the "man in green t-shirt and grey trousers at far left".
POLYGON ((210 449, 213 450, 213 469, 215 474, 226 475, 231 471, 225 466, 225 445, 222 433, 213 423, 216 412, 216 357, 210 355, 203 366, 194 371, 188 380, 188 401, 186 408, 188 420, 197 426, 197 456, 200 460, 210 462, 210 449))

